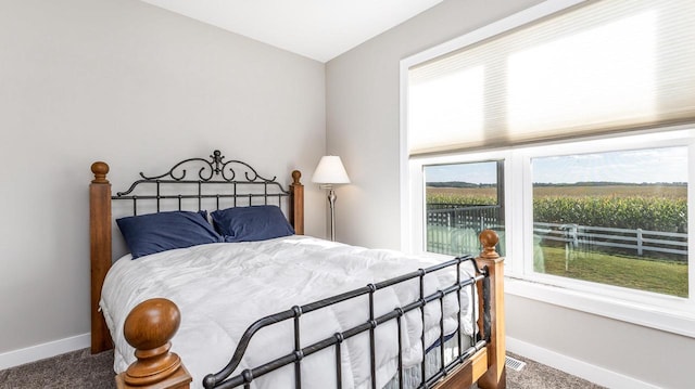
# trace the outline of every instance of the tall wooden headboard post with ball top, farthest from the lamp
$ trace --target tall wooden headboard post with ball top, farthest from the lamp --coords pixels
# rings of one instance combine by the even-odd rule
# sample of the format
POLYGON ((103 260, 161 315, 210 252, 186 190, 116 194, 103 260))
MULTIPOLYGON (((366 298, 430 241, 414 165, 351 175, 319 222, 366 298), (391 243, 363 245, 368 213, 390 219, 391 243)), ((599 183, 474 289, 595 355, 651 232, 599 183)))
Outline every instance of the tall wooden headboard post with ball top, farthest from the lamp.
POLYGON ((89 185, 89 236, 91 257, 91 353, 113 348, 111 334, 99 311, 101 286, 111 268, 111 183, 106 180, 109 165, 91 165, 94 179, 89 185))

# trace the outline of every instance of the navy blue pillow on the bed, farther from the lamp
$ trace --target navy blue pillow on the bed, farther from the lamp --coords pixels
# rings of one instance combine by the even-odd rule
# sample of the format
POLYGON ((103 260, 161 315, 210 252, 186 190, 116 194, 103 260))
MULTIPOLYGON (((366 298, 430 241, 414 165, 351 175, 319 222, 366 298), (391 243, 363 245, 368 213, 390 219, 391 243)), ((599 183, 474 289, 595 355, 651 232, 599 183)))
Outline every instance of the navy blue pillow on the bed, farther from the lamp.
MULTIPOLYGON (((206 212, 205 212, 206 215, 206 212)), ((168 211, 116 220, 132 259, 149 254, 224 242, 203 211, 168 211)))

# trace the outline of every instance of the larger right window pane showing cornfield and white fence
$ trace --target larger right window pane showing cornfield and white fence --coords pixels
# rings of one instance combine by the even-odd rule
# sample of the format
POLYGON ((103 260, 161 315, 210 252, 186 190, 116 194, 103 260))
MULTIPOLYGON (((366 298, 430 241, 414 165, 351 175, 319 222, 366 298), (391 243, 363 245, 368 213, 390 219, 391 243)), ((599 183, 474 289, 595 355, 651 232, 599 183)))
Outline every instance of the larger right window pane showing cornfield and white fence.
POLYGON ((530 164, 533 272, 688 297, 686 146, 530 164))

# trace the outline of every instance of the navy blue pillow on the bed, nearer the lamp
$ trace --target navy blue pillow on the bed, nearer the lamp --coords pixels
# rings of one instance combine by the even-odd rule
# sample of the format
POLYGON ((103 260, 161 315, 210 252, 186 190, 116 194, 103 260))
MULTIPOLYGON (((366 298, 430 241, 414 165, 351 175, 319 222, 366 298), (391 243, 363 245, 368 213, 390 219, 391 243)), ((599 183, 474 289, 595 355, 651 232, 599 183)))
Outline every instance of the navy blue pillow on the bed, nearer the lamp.
POLYGON ((210 213, 225 242, 255 242, 294 235, 282 210, 274 205, 235 207, 210 213))

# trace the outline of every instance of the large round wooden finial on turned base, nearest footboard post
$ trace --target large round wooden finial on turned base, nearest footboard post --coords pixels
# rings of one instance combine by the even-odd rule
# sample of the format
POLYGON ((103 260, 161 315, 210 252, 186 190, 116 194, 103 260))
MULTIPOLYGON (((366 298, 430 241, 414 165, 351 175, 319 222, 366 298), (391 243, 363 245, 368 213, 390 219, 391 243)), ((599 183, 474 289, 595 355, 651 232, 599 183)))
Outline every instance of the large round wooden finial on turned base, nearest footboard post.
POLYGON ((164 298, 140 302, 126 317, 124 334, 138 361, 125 372, 131 386, 160 382, 181 366, 180 358, 169 352, 169 340, 181 322, 176 304, 164 298))

